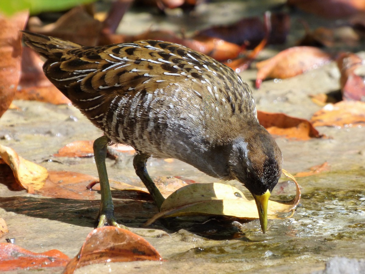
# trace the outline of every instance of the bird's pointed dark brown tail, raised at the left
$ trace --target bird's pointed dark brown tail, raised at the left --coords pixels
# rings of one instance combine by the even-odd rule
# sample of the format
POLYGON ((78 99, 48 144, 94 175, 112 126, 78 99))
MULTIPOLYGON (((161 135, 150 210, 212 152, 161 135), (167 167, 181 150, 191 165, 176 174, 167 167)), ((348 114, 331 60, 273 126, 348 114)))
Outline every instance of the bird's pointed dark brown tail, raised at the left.
POLYGON ((23 41, 28 47, 48 60, 59 61, 66 49, 75 49, 82 45, 64 39, 46 36, 30 31, 22 31, 23 41))

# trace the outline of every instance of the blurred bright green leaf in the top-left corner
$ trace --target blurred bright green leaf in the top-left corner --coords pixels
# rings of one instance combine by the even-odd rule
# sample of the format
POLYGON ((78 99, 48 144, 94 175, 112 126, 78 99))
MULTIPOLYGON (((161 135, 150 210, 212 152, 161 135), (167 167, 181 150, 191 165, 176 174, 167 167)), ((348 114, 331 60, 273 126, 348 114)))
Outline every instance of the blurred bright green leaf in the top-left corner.
POLYGON ((44 11, 63 11, 80 4, 92 3, 95 0, 1 0, 0 12, 12 15, 28 9, 30 14, 44 11))

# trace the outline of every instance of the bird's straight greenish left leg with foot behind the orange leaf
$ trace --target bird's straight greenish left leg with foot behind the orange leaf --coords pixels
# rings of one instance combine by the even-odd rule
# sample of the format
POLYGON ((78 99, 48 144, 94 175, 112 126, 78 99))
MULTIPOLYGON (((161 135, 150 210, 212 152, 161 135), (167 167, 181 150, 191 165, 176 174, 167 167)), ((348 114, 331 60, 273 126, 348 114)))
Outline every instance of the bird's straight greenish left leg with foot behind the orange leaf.
POLYGON ((99 174, 101 202, 98 216, 95 222, 97 227, 104 227, 105 225, 114 225, 115 227, 125 228, 124 225, 118 224, 114 218, 114 205, 112 194, 110 192, 109 179, 107 174, 107 167, 105 165, 105 158, 107 157, 107 146, 109 142, 107 136, 102 136, 94 141, 94 158, 99 174))

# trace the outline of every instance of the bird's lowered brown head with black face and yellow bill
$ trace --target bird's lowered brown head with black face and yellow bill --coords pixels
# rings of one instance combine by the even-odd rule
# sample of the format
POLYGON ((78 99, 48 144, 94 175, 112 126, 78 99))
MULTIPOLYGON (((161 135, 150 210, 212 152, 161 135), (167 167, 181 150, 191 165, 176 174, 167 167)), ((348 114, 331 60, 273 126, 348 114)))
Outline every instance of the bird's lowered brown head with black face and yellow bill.
POLYGON ((265 128, 254 126, 233 140, 229 162, 231 175, 253 195, 265 233, 269 197, 283 165, 280 148, 265 128))

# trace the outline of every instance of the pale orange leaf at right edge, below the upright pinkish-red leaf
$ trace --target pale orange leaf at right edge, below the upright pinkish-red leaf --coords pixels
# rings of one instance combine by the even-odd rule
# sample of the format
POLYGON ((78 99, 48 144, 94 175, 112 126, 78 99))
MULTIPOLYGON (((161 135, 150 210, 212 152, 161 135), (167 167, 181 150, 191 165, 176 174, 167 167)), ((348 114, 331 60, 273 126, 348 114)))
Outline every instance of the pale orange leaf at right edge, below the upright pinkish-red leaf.
POLYGON ((363 126, 365 123, 365 103, 360 101, 341 101, 327 104, 313 114, 313 126, 363 126))

